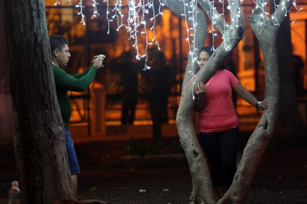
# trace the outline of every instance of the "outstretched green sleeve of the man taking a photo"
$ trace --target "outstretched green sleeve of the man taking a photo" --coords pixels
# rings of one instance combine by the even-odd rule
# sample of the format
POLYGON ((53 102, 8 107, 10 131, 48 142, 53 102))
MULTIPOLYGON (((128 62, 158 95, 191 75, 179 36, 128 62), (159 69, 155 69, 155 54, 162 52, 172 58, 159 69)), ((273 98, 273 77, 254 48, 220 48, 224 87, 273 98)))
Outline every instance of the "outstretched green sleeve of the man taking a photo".
POLYGON ((73 75, 66 73, 61 68, 54 68, 55 84, 64 90, 83 92, 93 82, 97 70, 98 67, 92 66, 86 70, 86 73, 82 77, 76 79, 73 75))

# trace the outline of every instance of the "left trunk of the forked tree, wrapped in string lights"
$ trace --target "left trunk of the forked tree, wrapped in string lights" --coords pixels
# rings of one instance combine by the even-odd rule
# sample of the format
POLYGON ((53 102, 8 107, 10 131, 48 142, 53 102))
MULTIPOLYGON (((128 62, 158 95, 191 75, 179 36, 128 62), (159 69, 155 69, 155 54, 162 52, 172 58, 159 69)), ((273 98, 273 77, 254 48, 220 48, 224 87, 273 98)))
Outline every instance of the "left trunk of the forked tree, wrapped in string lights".
MULTIPOLYGON (((213 8, 211 3, 201 4, 201 2, 203 1, 199 2, 200 5, 204 7, 205 11, 207 12, 209 12, 210 10, 212 11, 212 9, 210 9, 210 7, 213 8)), ((189 2, 185 3, 190 4, 189 2)), ((231 9, 231 12, 232 13, 238 12, 238 9, 240 8, 239 1, 230 1, 230 3, 235 3, 237 5, 237 7, 233 7, 231 9)), ((169 9, 171 9, 175 14, 179 16, 181 16, 180 15, 181 13, 184 13, 183 6, 180 5, 178 2, 176 3, 173 1, 166 1, 165 6, 167 6, 169 9)), ((187 7, 189 8, 189 6, 187 7)), ((207 14, 209 15, 209 13, 207 14)), ((200 17, 204 16, 201 10, 199 11, 199 16, 200 17)), ((223 22, 223 24, 224 23, 228 24, 224 21, 221 21, 220 18, 219 21, 223 22)), ((203 22, 205 22, 205 20, 203 22)), ((198 28, 199 28, 198 30, 201 31, 203 27, 204 27, 203 24, 198 23, 198 28)), ((196 30, 196 34, 198 30, 196 30)), ((212 54, 212 56, 209 58, 208 62, 206 63, 205 67, 197 72, 196 77, 193 80, 194 83, 198 83, 200 81, 206 83, 212 77, 217 68, 220 65, 222 65, 224 59, 229 55, 231 50, 243 38, 244 24, 243 24, 242 15, 235 18, 234 22, 230 24, 230 26, 226 28, 225 31, 223 30, 222 32, 224 33, 223 35, 224 39, 227 38, 227 40, 225 40, 226 44, 224 41, 215 50, 215 52, 212 54)), ((196 41, 196 39, 198 39, 199 37, 204 38, 204 36, 194 35, 194 40, 196 41)), ((202 46, 204 46, 204 44, 200 44, 199 46, 201 48, 202 46)), ((199 52, 197 53, 197 55, 199 55, 199 52)), ((194 85, 193 83, 191 83, 189 86, 187 86, 189 79, 191 78, 188 71, 192 70, 191 66, 193 66, 193 63, 197 63, 197 61, 194 61, 192 56, 190 55, 189 55, 189 60, 190 63, 188 62, 186 67, 180 105, 177 111, 177 129, 180 137, 180 142, 185 151, 185 155, 188 160, 192 176, 193 189, 192 189, 192 194, 190 196, 191 202, 193 203, 196 201, 197 198, 199 198, 202 203, 215 203, 209 168, 206 163, 202 148, 198 142, 198 138, 196 137, 192 121, 192 112, 194 106, 192 90, 194 85)))

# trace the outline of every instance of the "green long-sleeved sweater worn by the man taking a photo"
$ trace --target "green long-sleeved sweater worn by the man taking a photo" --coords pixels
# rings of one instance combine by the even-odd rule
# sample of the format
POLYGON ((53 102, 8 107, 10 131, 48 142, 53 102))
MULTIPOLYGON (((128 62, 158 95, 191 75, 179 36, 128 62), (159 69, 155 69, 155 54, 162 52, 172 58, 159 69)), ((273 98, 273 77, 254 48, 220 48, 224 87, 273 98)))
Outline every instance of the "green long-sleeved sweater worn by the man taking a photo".
POLYGON ((82 73, 70 75, 63 69, 52 65, 54 71, 54 80, 56 95, 59 101, 61 115, 64 122, 64 127, 68 127, 72 110, 68 97, 68 91, 83 92, 87 89, 94 80, 98 67, 92 66, 82 73))

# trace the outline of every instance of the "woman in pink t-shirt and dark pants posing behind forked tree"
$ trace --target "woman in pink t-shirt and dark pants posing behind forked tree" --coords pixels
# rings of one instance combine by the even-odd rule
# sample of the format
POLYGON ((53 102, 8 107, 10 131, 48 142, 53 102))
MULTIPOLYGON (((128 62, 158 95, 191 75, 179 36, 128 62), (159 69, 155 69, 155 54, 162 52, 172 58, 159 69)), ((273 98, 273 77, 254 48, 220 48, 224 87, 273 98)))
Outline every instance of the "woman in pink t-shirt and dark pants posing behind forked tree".
MULTIPOLYGON (((200 69, 212 55, 211 48, 201 49, 200 69)), ((219 198, 231 185, 236 172, 239 121, 232 101, 232 90, 258 110, 268 108, 266 100, 258 101, 224 67, 218 69, 206 84, 199 82, 195 86, 194 111, 200 113, 200 138, 210 164, 212 184, 219 198)))

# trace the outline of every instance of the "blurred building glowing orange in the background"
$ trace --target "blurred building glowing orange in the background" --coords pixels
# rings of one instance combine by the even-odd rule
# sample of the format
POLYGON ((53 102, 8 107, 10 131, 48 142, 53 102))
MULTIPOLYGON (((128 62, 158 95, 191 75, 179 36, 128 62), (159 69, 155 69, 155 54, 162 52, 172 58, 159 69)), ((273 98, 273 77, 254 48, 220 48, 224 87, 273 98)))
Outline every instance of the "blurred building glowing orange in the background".
MULTIPOLYGON (((120 75, 114 71, 112 68, 112 60, 118 58, 123 52, 131 51, 133 55, 133 61, 138 63, 135 56, 135 47, 133 47, 134 40, 128 40, 129 34, 125 28, 121 28, 117 31, 118 25, 116 18, 113 21, 109 22, 106 18, 106 4, 101 3, 98 7, 98 13, 100 14, 97 17, 92 18, 93 8, 91 7, 92 1, 83 0, 85 8, 83 8, 83 14, 85 15, 84 21, 85 25, 80 23, 81 18, 77 15, 79 8, 76 8, 75 5, 79 1, 68 1, 61 0, 61 6, 54 6, 55 0, 46 0, 46 12, 47 12, 47 21, 49 34, 60 34, 64 37, 67 37, 70 40, 70 50, 72 53, 72 60, 68 65, 69 73, 76 73, 82 71, 90 64, 90 59, 96 54, 105 54, 107 60, 105 62, 105 67, 103 70, 99 70, 100 74, 96 77, 96 82, 94 87, 98 87, 103 90, 105 95, 106 104, 101 104, 105 106, 104 118, 106 125, 118 125, 120 124, 121 117, 121 103, 119 100, 116 100, 117 94, 117 82, 120 79, 120 75), (108 27, 109 26, 109 27, 108 27), (109 35, 107 31, 109 30, 109 35), (114 99, 115 98, 115 99, 114 99)), ((102 1, 101 1, 102 2, 102 1)), ((112 19, 114 15, 111 13, 116 1, 109 2, 109 14, 108 18, 112 19)), ((300 1, 297 1, 299 3, 300 1)), ((157 1, 157 3, 159 3, 157 1)), ((247 2, 245 2, 247 3, 247 2)), ((250 1, 252 4, 252 1, 250 1)), ((123 4, 126 4, 123 1, 123 4)), ((293 54, 299 55, 305 66, 304 66, 304 87, 307 89, 307 70, 306 70, 306 19, 307 7, 304 5, 299 5, 298 8, 303 7, 298 15, 296 16, 295 8, 291 7, 290 20, 296 21, 291 23, 291 36, 293 44, 293 54)), ((157 5, 156 9, 159 6, 157 5)), ((222 12, 222 7, 217 9, 222 12)), ((242 6, 242 11, 244 14, 245 20, 245 36, 242 41, 239 42, 238 46, 232 53, 231 60, 234 62, 236 67, 236 74, 240 82, 248 90, 258 94, 259 98, 264 92, 264 69, 262 64, 262 56, 259 51, 257 52, 257 44, 255 44, 254 35, 249 27, 247 21, 247 16, 251 15, 252 7, 251 6, 242 6), (259 56, 259 58, 255 58, 259 56), (256 67, 256 68, 255 68, 256 67)), ((125 23, 127 16, 128 8, 126 5, 122 7, 123 23, 125 23)), ((225 9, 225 16, 228 16, 228 10, 225 9)), ((151 41, 153 39, 153 30, 150 30, 152 21, 148 18, 147 21, 147 34, 148 39, 151 41)), ((211 30, 210 21, 208 20, 208 32, 211 30)), ((163 8, 163 15, 156 18, 155 25, 155 34, 159 40, 161 46, 161 52, 165 56, 165 61, 168 65, 172 66, 176 71, 176 83, 171 88, 171 94, 168 97, 168 123, 174 123, 176 120, 176 107, 179 105, 180 98, 180 89, 181 83, 183 80, 183 74, 185 65, 187 62, 187 56, 189 53, 189 46, 186 41, 186 23, 184 20, 174 15, 170 10, 163 8), (180 39, 179 36, 182 36, 180 39), (180 57, 182 56, 182 57, 180 57)), ((214 37, 214 45, 218 46, 222 41, 222 36, 217 35, 214 37)), ((139 35, 139 52, 141 55, 145 52, 145 35, 139 35)), ((206 39, 206 45, 212 45, 213 38, 212 34, 208 33, 206 39)), ((151 47, 155 47, 153 43, 151 47)), ((260 50, 260 49, 259 49, 260 50)), ((150 58, 150 56, 149 56, 150 58)), ((150 59, 149 59, 150 60, 150 59)), ((140 63, 139 63, 140 64, 140 63)), ((154 68, 154 67, 153 67, 154 68)), ((139 87, 144 86, 144 79, 141 73, 138 73, 139 87)), ((93 88, 91 89, 93 90, 93 88)), ((144 94, 144 90, 139 88, 139 94, 144 94)), ((72 93, 72 95, 77 95, 77 93, 72 93)), ((85 94, 85 96, 75 97, 76 100, 72 102, 73 109, 75 110, 72 115, 72 121, 76 122, 85 122, 89 123, 89 126, 94 121, 93 117, 93 94, 91 92, 85 94), (89 100, 89 101, 85 101, 89 100), (77 101, 79 100, 79 101, 77 101)), ((257 114, 257 111, 254 107, 248 105, 243 100, 237 100, 237 112, 239 117, 244 117, 248 114, 257 114)), ((150 113, 148 110, 148 102, 143 99, 138 100, 136 118, 134 121, 135 125, 138 124, 148 124, 150 123, 150 113)), ((89 129, 90 130, 90 129, 89 129)))

